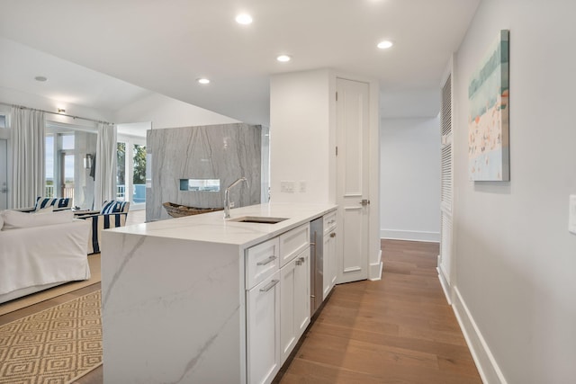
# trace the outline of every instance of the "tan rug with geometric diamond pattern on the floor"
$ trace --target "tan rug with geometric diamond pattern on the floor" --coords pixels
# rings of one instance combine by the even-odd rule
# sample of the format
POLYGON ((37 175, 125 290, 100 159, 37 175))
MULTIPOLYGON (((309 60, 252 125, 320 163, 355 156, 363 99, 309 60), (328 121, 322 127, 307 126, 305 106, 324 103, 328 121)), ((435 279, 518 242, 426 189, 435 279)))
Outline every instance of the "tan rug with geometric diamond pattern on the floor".
POLYGON ((101 291, 0 326, 0 383, 66 384, 102 365, 101 291))

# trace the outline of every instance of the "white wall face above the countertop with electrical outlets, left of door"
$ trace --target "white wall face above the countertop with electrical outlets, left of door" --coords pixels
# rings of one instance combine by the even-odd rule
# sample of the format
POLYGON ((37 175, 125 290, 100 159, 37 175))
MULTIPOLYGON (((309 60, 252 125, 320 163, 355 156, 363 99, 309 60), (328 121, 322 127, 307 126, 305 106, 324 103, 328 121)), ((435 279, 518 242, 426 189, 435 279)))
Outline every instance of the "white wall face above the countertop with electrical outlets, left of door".
POLYGON ((275 202, 335 202, 330 196, 330 76, 326 69, 270 79, 270 188, 275 202), (280 183, 294 182, 294 192, 280 183), (300 183, 306 192, 300 192, 300 183))

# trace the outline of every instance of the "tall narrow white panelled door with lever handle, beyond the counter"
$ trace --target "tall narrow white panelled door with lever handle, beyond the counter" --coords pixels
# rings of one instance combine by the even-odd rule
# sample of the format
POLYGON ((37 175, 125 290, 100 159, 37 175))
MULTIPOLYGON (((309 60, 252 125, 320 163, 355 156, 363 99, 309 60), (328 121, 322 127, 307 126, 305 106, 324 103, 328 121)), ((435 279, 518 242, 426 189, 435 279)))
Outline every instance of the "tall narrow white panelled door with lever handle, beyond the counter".
POLYGON ((338 78, 338 282, 368 278, 369 134, 369 85, 338 78))

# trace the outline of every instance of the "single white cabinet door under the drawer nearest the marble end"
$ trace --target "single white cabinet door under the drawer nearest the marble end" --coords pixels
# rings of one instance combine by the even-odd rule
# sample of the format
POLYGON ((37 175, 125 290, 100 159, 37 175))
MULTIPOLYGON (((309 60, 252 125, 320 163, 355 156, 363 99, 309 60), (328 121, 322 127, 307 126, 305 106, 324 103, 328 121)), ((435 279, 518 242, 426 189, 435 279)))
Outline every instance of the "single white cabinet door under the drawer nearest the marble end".
MULTIPOLYGON (((280 272, 247 290, 247 382, 270 383, 280 371, 280 272)), ((222 369, 226 369, 222 367, 222 369)))

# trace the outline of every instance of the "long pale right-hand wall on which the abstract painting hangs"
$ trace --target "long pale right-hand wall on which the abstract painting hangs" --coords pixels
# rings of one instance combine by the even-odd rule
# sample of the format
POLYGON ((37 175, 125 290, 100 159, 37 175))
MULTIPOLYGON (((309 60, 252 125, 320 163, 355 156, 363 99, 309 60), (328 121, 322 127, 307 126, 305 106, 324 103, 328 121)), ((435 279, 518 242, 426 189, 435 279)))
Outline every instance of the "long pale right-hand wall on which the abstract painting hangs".
POLYGON ((484 0, 456 55, 455 309, 489 383, 576 377, 574 14, 568 0, 484 0), (510 182, 473 183, 468 82, 500 29, 510 30, 510 182))

